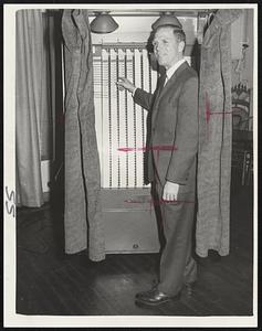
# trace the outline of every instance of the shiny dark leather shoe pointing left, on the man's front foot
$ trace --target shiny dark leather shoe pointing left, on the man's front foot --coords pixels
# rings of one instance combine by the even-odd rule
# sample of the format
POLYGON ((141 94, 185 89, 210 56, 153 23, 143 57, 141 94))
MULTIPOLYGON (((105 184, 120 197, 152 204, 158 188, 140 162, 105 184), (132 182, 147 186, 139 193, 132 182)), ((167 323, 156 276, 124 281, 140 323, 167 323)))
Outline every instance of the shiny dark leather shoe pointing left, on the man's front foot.
POLYGON ((178 300, 180 298, 180 292, 177 296, 168 296, 154 287, 153 289, 144 292, 139 292, 136 295, 136 302, 149 305, 149 306, 157 306, 160 303, 165 303, 171 300, 178 300))

